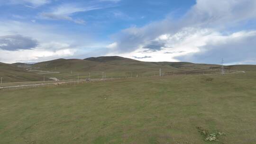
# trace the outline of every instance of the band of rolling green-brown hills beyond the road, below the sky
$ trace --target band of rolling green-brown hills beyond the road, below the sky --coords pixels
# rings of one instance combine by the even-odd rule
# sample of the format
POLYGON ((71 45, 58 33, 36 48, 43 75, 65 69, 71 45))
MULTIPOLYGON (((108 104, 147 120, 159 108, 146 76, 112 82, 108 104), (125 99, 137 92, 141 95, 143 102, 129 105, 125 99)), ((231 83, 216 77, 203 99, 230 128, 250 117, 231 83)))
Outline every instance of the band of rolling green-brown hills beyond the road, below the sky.
MULTIPOLYGON (((173 74, 206 74, 219 73, 221 66, 216 64, 200 64, 188 62, 141 62, 120 56, 101 56, 85 59, 56 59, 52 61, 26 63, 0 63, 0 76, 4 82, 42 81, 43 76, 55 77, 59 80, 74 80, 79 75, 81 79, 125 78, 173 74)), ((256 71, 255 65, 225 66, 225 71, 256 71)))

